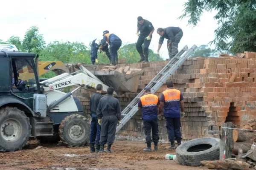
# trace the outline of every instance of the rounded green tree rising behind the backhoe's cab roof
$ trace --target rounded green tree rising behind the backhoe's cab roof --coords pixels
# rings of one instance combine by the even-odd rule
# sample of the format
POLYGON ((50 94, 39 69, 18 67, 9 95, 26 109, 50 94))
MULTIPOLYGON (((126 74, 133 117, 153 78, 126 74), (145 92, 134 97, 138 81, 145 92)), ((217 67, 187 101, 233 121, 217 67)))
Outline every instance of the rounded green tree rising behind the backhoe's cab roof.
POLYGON ((23 49, 27 52, 40 53, 45 47, 45 41, 43 34, 39 34, 39 28, 37 26, 30 27, 23 39, 23 49))

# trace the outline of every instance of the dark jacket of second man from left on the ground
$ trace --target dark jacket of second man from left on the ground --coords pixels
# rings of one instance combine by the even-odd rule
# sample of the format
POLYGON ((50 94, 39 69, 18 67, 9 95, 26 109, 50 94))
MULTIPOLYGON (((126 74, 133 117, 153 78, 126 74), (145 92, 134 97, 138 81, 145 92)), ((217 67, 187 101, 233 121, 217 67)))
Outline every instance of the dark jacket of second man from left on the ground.
POLYGON ((98 119, 102 119, 104 116, 116 116, 118 120, 121 120, 121 106, 118 99, 109 94, 100 99, 97 116, 98 119))

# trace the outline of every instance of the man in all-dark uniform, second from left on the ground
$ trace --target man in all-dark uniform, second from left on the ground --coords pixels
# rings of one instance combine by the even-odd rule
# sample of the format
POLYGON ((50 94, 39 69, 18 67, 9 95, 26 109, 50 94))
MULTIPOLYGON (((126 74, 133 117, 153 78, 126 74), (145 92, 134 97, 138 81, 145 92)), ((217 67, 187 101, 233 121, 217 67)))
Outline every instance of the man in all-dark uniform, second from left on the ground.
POLYGON ((107 96, 99 101, 97 108, 97 116, 99 124, 101 124, 100 132, 100 151, 103 153, 104 145, 107 143, 107 153, 112 153, 111 145, 113 144, 116 136, 116 126, 121 122, 121 106, 118 99, 113 97, 114 88, 109 87, 107 96))

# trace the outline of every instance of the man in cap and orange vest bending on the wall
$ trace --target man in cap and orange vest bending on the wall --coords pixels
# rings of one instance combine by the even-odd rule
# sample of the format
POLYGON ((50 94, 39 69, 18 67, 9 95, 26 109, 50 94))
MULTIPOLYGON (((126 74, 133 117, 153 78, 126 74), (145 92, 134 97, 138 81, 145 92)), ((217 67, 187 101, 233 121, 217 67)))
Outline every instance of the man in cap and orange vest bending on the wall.
POLYGON ((108 42, 109 51, 111 56, 112 65, 116 65, 118 63, 118 55, 117 51, 122 45, 122 40, 116 36, 116 34, 110 34, 108 30, 103 31, 103 39, 101 41, 102 46, 108 42))

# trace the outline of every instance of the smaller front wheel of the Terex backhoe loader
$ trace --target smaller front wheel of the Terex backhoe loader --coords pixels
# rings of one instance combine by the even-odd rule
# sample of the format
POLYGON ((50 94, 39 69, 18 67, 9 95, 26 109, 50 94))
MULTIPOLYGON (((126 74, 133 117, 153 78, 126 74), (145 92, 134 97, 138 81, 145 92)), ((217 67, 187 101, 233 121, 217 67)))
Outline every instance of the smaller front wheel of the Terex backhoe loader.
POLYGON ((59 126, 59 136, 67 147, 80 147, 89 142, 90 122, 82 115, 66 116, 59 126))

